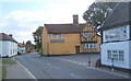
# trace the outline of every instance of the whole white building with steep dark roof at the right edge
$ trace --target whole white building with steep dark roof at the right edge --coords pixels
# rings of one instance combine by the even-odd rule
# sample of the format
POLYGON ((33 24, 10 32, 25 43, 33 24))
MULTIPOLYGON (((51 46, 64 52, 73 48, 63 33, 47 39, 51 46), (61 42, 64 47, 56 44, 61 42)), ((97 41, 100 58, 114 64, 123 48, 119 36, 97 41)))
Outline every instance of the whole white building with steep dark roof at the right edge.
POLYGON ((130 2, 119 3, 100 27, 102 65, 131 69, 130 2))

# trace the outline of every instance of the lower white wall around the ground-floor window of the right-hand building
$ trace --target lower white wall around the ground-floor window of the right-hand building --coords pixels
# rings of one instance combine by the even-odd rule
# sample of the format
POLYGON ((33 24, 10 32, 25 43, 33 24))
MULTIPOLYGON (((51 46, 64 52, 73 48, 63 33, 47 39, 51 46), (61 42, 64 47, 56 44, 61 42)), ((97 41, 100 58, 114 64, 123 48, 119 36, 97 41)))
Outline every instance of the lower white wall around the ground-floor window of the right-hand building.
MULTIPOLYGON (((102 63, 106 65, 106 66, 111 66, 111 61, 107 59, 107 50, 123 50, 124 51, 124 61, 115 61, 115 66, 116 67, 120 67, 120 68, 127 68, 129 69, 129 54, 131 54, 131 48, 129 48, 129 46, 131 47, 131 42, 119 42, 119 43, 107 43, 107 44, 102 44, 100 48, 102 48, 102 63), (130 45, 129 45, 130 44, 130 45)), ((130 61, 131 62, 131 61, 130 61)), ((130 67, 131 69, 131 67, 130 67)))

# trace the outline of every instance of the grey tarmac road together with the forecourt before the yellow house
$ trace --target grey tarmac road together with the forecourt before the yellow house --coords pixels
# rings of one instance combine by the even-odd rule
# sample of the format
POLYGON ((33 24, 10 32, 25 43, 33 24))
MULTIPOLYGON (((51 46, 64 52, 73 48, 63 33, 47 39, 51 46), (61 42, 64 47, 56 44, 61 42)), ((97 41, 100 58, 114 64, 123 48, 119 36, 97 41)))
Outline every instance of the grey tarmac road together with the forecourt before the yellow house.
POLYGON ((87 65, 88 55, 39 57, 29 54, 15 57, 36 79, 129 79, 128 73, 95 68, 99 55, 91 56, 92 66, 87 65), (94 62, 93 62, 94 61, 94 62))

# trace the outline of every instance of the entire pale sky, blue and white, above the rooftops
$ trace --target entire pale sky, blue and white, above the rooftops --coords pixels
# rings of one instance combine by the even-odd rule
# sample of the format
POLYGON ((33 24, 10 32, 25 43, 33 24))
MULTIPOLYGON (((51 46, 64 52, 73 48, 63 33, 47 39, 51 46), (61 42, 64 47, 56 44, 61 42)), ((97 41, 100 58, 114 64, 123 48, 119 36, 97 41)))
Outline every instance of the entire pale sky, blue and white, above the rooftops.
POLYGON ((19 43, 32 40, 33 32, 44 24, 72 23, 72 15, 82 15, 95 0, 1 0, 0 33, 12 34, 19 43))

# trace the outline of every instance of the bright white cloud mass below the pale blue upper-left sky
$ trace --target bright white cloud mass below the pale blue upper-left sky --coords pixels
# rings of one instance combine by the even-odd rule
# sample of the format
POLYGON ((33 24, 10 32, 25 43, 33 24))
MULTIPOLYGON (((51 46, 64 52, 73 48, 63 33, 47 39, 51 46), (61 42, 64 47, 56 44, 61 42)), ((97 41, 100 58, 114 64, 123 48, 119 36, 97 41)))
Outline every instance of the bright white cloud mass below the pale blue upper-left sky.
POLYGON ((13 34, 20 43, 28 39, 33 42, 33 32, 45 23, 72 23, 73 14, 79 14, 80 23, 84 23, 82 15, 92 2, 87 0, 56 0, 48 2, 46 7, 40 3, 35 11, 11 11, 3 16, 0 32, 13 34))

